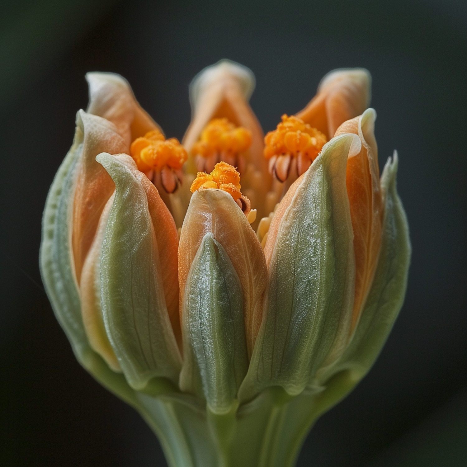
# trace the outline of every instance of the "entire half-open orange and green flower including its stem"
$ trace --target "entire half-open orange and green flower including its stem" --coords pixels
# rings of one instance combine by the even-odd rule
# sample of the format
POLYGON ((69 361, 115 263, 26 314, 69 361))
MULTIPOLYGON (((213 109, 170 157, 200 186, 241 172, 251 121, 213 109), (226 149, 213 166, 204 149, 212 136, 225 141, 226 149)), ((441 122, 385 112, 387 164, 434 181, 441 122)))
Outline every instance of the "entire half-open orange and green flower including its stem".
POLYGON ((78 361, 171 467, 293 466, 406 289, 397 155, 380 178, 368 71, 332 71, 264 135, 253 74, 221 61, 191 83, 182 142, 123 78, 86 78, 40 252, 78 361))

